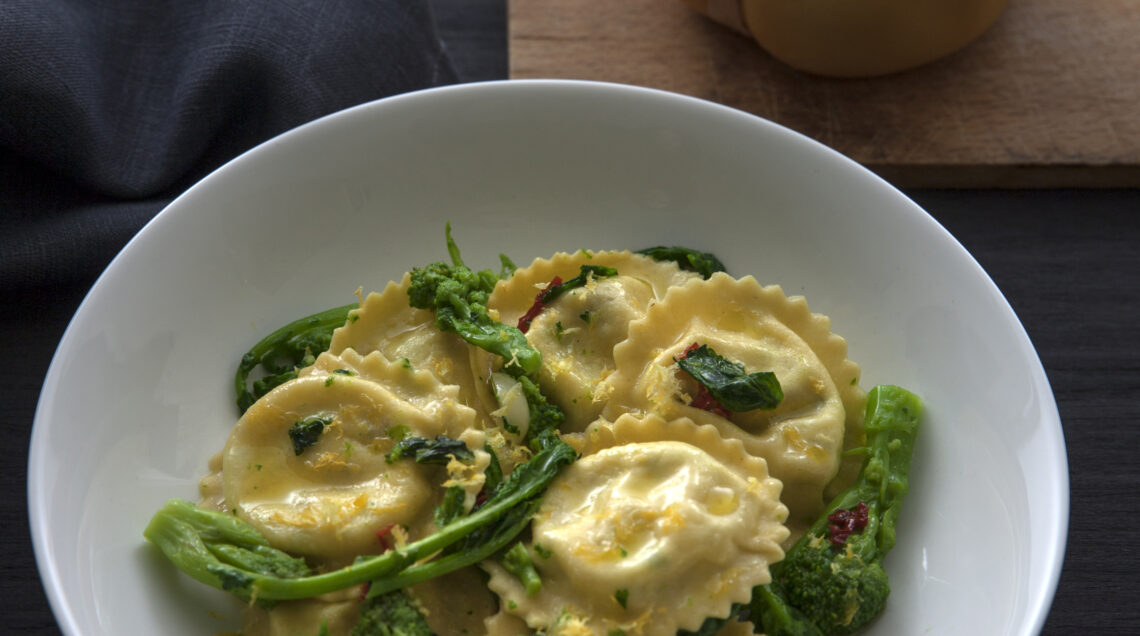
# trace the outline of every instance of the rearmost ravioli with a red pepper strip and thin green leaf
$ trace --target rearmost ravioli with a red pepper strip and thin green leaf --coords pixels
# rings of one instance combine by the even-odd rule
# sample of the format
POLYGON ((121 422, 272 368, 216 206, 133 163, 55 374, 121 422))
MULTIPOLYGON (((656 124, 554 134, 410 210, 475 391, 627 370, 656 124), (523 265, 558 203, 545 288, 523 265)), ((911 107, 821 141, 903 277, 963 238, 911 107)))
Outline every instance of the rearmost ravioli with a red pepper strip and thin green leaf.
MULTIPOLYGON (((516 325, 547 284, 555 277, 565 282, 578 276, 584 264, 610 267, 618 274, 563 294, 527 331, 527 340, 543 354, 539 385, 565 411, 563 430, 569 432, 581 431, 602 413, 605 394, 596 388, 613 372, 613 346, 625 340, 627 325, 644 316, 669 287, 698 277, 676 263, 628 251, 581 250, 520 268, 496 285, 487 307, 503 324, 516 325)), ((478 350, 475 357, 477 373, 488 375, 492 357, 478 350)))

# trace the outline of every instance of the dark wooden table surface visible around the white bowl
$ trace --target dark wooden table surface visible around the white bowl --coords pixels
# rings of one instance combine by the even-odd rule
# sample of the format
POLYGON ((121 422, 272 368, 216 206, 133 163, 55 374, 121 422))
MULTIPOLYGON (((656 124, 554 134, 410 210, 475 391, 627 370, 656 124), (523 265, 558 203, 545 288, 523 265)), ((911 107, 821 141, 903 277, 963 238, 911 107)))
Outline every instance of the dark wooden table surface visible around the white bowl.
MULTIPOLYGON (((464 81, 505 79, 504 0, 433 0, 464 81)), ((1140 106, 1140 105, 1138 105, 1140 106)), ((1068 446, 1072 516, 1044 634, 1140 634, 1140 189, 913 190, 1018 313, 1052 383, 1068 446)), ((27 527, 27 442, 56 343, 90 280, 0 299, 0 507, 5 634, 58 634, 27 527), (46 299, 50 299, 48 302, 46 299), (36 308, 34 313, 28 308, 36 308)), ((969 546, 962 546, 969 549, 969 546)), ((968 612, 969 608, 963 608, 968 612)))

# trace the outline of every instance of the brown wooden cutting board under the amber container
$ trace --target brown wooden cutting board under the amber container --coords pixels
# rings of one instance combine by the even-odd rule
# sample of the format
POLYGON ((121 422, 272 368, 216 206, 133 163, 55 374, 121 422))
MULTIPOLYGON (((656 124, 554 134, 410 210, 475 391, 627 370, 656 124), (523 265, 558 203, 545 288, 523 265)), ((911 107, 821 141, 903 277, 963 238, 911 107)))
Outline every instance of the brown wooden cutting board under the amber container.
POLYGON ((510 0, 511 76, 659 88, 755 113, 901 187, 1140 187, 1140 1, 1011 0, 904 73, 792 71, 679 0, 510 0))

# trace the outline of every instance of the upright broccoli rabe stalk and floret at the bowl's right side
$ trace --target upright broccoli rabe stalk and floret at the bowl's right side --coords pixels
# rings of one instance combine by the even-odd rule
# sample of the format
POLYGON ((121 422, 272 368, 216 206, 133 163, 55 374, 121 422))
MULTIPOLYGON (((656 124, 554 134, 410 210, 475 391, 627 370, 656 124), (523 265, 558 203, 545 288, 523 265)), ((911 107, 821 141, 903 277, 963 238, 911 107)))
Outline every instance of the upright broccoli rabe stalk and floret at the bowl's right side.
POLYGON ((890 594, 882 557, 895 545, 922 405, 898 386, 868 394, 866 459, 855 483, 772 566, 752 595, 768 636, 850 634, 882 612, 890 594))

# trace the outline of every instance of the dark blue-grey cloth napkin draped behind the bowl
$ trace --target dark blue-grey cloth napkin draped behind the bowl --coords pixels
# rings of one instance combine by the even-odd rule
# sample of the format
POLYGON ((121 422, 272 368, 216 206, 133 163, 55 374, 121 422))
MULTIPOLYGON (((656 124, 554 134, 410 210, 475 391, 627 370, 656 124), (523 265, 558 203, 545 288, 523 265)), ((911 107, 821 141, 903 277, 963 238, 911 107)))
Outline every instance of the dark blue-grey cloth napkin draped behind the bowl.
POLYGON ((0 2, 0 291, 93 279, 241 152, 454 81, 427 0, 0 2))

